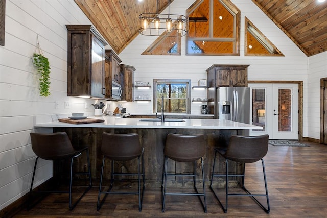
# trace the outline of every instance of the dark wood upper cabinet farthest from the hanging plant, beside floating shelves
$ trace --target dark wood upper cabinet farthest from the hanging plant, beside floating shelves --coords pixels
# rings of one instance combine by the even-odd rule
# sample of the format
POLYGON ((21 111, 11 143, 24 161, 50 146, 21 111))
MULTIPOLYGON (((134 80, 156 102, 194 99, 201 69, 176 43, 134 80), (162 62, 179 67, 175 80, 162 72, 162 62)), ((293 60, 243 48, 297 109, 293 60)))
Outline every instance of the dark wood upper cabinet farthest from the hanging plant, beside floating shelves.
POLYGON ((135 68, 133 66, 121 64, 123 101, 134 101, 134 72, 135 68))

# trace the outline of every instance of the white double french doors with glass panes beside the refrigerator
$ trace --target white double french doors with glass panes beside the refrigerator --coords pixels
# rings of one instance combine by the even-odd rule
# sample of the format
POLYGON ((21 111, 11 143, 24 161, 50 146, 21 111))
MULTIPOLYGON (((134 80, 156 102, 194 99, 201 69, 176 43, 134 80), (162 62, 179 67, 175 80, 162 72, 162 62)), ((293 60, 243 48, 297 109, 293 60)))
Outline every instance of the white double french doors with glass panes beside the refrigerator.
POLYGON ((298 84, 252 83, 252 124, 262 130, 250 135, 268 134, 269 139, 298 140, 298 84))

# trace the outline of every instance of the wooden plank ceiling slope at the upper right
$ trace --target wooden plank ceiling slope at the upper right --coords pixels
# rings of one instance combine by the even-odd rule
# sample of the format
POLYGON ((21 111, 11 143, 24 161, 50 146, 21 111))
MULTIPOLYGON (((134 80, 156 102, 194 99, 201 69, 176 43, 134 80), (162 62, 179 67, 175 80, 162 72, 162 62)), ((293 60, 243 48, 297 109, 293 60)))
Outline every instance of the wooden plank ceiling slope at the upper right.
POLYGON ((327 1, 252 0, 307 55, 327 51, 327 1))

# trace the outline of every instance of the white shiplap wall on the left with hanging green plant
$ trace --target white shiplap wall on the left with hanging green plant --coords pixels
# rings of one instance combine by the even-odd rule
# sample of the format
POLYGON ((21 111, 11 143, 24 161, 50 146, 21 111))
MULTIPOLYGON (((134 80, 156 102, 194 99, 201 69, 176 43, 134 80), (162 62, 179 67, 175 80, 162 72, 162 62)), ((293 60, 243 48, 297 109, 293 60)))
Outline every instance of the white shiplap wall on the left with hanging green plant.
MULTIPOLYGON (((90 24, 74 1, 6 0, 5 46, 0 46, 0 209, 28 191, 35 161, 29 134, 36 131, 35 116, 93 110, 94 100, 67 97, 66 24, 90 24), (46 98, 39 96, 31 61, 37 34, 51 67, 51 95, 46 98), (71 109, 64 109, 65 101, 71 109)), ((41 161, 37 173, 36 185, 51 177, 51 162, 41 161)))

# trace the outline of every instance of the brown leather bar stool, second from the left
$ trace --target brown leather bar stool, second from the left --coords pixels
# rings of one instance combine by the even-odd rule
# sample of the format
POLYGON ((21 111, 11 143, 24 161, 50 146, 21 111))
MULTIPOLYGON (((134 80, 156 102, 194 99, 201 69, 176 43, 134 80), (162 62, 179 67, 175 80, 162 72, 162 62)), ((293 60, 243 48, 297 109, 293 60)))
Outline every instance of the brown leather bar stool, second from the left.
POLYGON ((102 145, 101 152, 103 154, 102 169, 101 169, 101 179, 98 195, 98 204, 97 210, 100 210, 108 194, 131 194, 138 195, 138 210, 142 211, 142 201, 145 190, 145 171, 144 171, 144 158, 143 152, 144 148, 141 147, 137 133, 127 133, 127 134, 113 134, 113 133, 102 133, 102 145), (103 180, 103 171, 105 166, 105 159, 111 159, 111 178, 110 178, 110 187, 108 191, 103 191, 102 189, 102 180, 103 180), (137 173, 114 173, 114 161, 129 161, 137 158, 138 161, 138 172, 137 173), (140 159, 142 159, 140 163, 140 159), (142 173, 141 173, 141 164, 142 164, 142 173), (138 176, 138 190, 135 191, 111 191, 114 176, 115 175, 125 175, 125 176, 138 176), (143 178, 143 189, 141 196, 141 176, 143 178), (100 195, 105 193, 100 202, 100 195))

